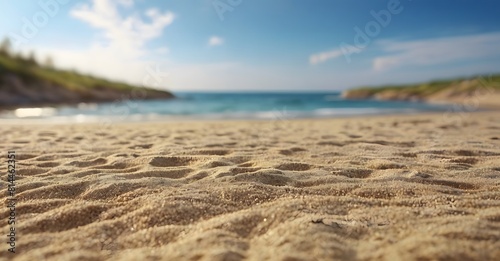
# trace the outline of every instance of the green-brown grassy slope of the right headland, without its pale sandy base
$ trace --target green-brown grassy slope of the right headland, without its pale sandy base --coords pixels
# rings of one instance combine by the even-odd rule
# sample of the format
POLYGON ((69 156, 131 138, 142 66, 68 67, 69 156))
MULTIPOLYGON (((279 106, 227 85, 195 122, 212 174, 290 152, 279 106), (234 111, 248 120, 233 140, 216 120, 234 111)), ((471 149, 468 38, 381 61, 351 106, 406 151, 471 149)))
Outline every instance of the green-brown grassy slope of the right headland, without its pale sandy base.
POLYGON ((343 96, 351 99, 428 100, 435 96, 467 96, 481 88, 500 91, 500 74, 452 80, 439 80, 409 85, 361 87, 347 90, 343 96))

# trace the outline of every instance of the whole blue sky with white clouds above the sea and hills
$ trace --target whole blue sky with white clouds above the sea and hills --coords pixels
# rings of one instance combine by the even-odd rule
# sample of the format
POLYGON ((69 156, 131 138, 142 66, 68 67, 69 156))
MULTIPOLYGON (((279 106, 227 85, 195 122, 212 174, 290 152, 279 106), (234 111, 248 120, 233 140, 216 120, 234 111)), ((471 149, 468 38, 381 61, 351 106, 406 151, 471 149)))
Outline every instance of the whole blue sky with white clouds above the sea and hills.
POLYGON ((337 91, 500 72, 496 0, 0 0, 0 37, 173 91, 337 91))

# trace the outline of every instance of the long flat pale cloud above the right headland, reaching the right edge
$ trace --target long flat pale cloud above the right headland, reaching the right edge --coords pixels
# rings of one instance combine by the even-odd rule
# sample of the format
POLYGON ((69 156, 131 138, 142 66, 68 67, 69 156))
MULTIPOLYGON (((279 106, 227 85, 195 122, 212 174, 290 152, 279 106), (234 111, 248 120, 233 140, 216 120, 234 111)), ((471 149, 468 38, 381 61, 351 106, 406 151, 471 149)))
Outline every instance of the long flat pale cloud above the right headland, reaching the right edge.
POLYGON ((445 37, 411 42, 379 41, 382 50, 394 53, 376 57, 373 69, 389 70, 409 65, 436 65, 500 55, 500 33, 445 37))

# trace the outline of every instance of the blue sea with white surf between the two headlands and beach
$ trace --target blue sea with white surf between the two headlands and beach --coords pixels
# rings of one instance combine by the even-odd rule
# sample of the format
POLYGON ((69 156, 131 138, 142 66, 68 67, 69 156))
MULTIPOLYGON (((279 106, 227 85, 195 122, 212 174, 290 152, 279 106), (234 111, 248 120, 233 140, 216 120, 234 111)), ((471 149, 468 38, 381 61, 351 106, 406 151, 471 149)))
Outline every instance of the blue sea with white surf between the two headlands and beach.
POLYGON ((92 121, 168 119, 291 119, 446 111, 449 106, 404 101, 347 100, 340 93, 178 92, 176 99, 25 108, 1 118, 92 121))

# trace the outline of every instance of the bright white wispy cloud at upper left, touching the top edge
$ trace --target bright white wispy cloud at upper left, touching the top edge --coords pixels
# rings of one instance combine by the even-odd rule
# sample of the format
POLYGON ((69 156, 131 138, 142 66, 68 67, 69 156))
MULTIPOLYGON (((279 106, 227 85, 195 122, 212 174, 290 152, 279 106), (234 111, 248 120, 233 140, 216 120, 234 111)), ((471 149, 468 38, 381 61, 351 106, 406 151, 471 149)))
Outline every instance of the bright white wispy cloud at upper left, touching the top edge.
POLYGON ((101 46, 140 56, 145 53, 144 45, 161 36, 163 29, 174 21, 174 14, 161 13, 153 8, 144 13, 150 22, 145 22, 137 14, 122 17, 118 8, 132 7, 133 4, 133 0, 92 0, 91 4, 82 4, 71 10, 71 15, 103 31, 107 42, 99 43, 101 46))

